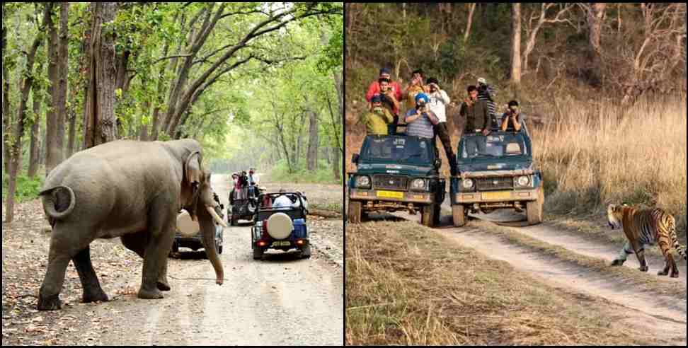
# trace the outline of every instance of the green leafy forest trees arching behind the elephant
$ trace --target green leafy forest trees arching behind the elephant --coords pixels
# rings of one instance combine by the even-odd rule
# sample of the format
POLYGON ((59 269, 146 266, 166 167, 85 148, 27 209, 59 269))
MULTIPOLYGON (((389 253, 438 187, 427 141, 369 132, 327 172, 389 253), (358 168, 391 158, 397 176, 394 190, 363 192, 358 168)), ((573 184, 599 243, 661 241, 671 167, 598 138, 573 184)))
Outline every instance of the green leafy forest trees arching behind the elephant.
POLYGON ((340 161, 333 149, 343 149, 336 135, 343 10, 343 3, 3 3, 4 182, 47 175, 74 151, 115 139, 194 137, 208 158, 227 156, 232 124, 253 132, 263 117, 250 110, 253 93, 277 88, 275 79, 299 64, 309 74, 289 88, 308 93, 277 94, 275 102, 290 105, 280 120, 285 132, 298 132, 285 134, 282 148, 298 166, 340 161))

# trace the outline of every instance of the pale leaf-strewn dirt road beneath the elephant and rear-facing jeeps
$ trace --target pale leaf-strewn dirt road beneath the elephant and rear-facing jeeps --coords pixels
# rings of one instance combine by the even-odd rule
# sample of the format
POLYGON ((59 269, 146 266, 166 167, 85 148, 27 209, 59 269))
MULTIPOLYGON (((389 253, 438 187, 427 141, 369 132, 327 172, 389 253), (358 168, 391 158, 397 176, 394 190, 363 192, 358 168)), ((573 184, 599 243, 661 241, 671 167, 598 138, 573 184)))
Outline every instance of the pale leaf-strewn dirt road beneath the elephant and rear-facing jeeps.
MULTIPOLYGON (((213 175, 212 181, 227 204, 227 177, 213 175)), ((62 293, 68 304, 62 311, 33 311, 35 298, 25 298, 30 301, 28 309, 10 310, 4 294, 3 344, 342 345, 343 267, 338 266, 338 257, 331 259, 336 253, 328 253, 326 248, 341 253, 338 250, 343 250, 343 243, 331 234, 319 233, 326 223, 336 221, 314 221, 311 233, 316 238, 309 260, 277 250, 255 261, 251 226, 225 228, 221 255, 224 285, 214 284, 205 252, 181 248, 180 257, 169 260, 172 290, 164 299, 154 301, 136 298, 141 282, 140 258, 122 250, 118 239, 98 240, 91 245, 91 254, 111 301, 79 303, 80 284, 70 265, 67 289, 62 293), (122 260, 127 260, 127 267, 103 277, 103 262, 98 258, 113 262, 113 250, 125 254, 122 260)), ((45 240, 39 243, 47 243, 47 237, 41 238, 45 240)), ((33 282, 42 279, 45 270, 38 274, 33 282)), ((25 277, 21 272, 4 274, 3 283, 6 275, 16 277, 11 282, 21 282, 25 277)), ((31 284, 29 289, 37 290, 37 285, 31 284)))

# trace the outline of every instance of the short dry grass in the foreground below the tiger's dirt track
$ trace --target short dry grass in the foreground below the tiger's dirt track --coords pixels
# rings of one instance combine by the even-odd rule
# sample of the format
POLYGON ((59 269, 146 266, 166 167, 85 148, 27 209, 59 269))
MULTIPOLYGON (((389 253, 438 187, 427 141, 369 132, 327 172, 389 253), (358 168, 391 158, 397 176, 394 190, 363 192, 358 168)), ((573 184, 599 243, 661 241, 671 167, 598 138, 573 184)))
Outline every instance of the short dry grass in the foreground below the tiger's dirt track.
POLYGON ((540 284, 412 222, 348 225, 346 243, 346 345, 648 343, 610 327, 602 300, 540 284))

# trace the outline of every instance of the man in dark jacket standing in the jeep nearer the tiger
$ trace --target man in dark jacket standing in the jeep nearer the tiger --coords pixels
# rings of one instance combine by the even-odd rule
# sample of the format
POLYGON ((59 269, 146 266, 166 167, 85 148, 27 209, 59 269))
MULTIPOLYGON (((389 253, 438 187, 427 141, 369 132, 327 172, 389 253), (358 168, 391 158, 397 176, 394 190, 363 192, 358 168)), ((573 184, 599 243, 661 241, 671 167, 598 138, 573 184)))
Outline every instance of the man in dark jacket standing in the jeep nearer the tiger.
POLYGON ((485 100, 478 99, 478 88, 469 86, 468 98, 461 103, 459 115, 466 117, 464 135, 481 134, 483 137, 470 137, 466 143, 469 156, 476 156, 478 153, 485 153, 486 139, 490 134, 490 110, 485 100))

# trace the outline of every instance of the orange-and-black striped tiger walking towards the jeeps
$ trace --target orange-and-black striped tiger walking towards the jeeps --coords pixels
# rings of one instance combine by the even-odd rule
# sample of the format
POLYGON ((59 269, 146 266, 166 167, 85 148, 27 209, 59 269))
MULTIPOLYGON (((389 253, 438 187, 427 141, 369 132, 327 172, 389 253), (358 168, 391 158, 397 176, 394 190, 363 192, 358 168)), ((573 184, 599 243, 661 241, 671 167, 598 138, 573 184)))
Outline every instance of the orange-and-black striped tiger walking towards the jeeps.
POLYGON ((648 272, 645 246, 659 243, 666 263, 664 269, 657 274, 665 276, 671 270, 670 277, 678 278, 679 271, 672 255, 672 248, 683 257, 683 260, 686 260, 686 247, 681 245, 676 238, 676 221, 671 214, 663 209, 635 209, 626 204, 621 206, 609 204, 607 218, 609 227, 617 229, 624 226, 624 233, 626 233, 624 248, 612 262, 612 266, 624 265, 626 257, 635 253, 641 265, 641 272, 648 272))

